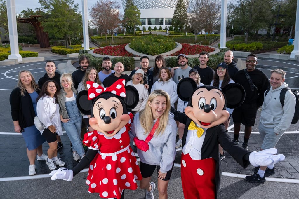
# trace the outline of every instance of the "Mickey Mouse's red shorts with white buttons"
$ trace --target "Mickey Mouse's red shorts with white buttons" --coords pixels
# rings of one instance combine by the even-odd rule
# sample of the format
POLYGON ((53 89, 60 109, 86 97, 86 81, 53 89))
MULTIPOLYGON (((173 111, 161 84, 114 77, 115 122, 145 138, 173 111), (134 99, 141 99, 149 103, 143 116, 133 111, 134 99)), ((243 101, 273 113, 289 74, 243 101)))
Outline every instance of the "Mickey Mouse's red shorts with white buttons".
POLYGON ((213 158, 192 160, 189 154, 181 155, 181 178, 184 198, 215 198, 216 161, 213 158))

